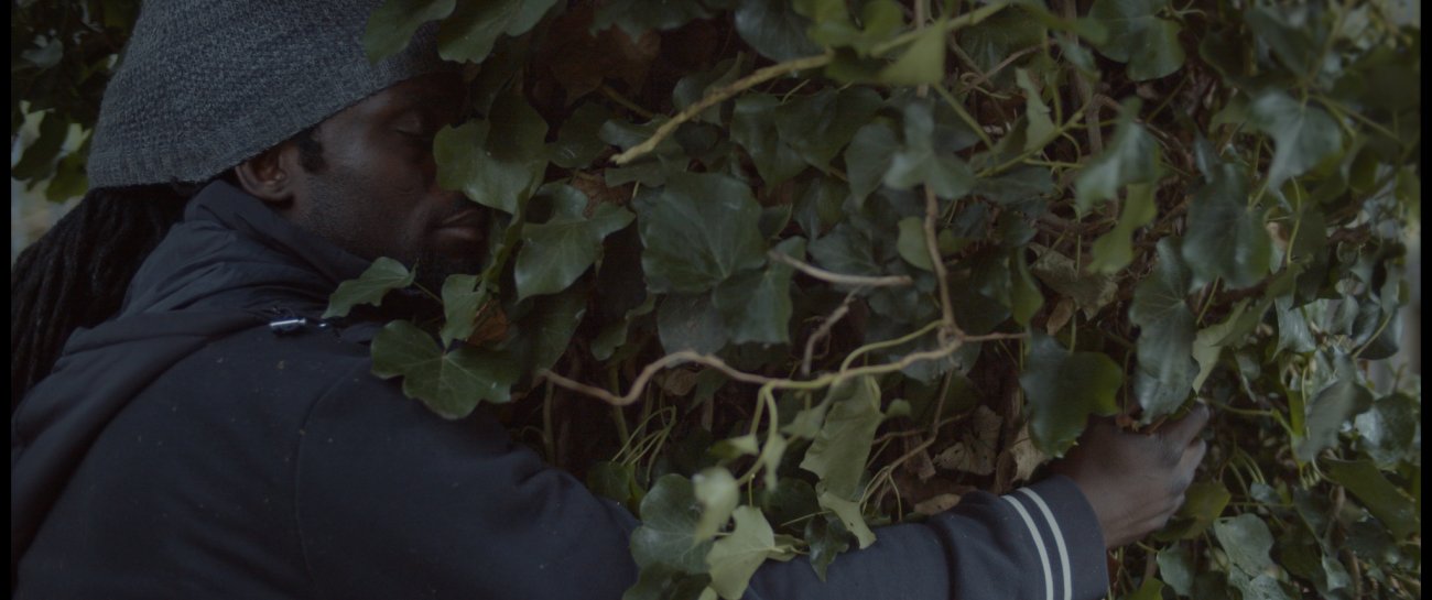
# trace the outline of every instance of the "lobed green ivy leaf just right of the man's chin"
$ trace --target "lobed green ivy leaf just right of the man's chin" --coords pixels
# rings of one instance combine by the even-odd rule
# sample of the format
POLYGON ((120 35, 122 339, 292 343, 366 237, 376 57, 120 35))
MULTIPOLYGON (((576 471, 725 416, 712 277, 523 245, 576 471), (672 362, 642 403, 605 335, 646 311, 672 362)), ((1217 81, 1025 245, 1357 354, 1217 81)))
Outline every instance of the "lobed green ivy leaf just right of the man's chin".
POLYGON ((600 202, 586 216, 587 196, 561 183, 543 186, 538 195, 553 200, 546 223, 523 226, 514 278, 517 298, 567 289, 601 253, 601 239, 632 223, 626 209, 600 202))

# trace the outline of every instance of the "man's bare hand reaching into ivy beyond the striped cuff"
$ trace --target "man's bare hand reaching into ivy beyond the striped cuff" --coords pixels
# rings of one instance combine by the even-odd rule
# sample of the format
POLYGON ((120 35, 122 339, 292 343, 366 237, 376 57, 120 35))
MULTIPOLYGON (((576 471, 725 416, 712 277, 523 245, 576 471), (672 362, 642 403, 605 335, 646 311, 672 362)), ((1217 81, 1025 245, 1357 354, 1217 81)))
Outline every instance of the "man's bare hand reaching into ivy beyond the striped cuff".
POLYGON ((1130 544, 1161 528, 1183 505, 1183 491, 1207 450, 1197 437, 1207 422, 1203 405, 1153 434, 1095 420, 1051 470, 1074 480, 1088 498, 1106 547, 1130 544))

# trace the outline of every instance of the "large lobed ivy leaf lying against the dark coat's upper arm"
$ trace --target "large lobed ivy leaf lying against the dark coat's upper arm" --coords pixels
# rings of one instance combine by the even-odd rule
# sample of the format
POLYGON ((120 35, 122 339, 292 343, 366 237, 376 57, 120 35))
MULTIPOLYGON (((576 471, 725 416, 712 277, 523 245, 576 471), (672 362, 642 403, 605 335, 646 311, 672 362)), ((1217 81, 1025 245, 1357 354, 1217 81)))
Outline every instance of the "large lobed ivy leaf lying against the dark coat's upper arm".
POLYGON ((442 352, 437 339, 407 321, 372 338, 372 374, 402 377, 402 394, 442 418, 463 418, 481 401, 507 402, 521 369, 507 355, 463 347, 442 352))

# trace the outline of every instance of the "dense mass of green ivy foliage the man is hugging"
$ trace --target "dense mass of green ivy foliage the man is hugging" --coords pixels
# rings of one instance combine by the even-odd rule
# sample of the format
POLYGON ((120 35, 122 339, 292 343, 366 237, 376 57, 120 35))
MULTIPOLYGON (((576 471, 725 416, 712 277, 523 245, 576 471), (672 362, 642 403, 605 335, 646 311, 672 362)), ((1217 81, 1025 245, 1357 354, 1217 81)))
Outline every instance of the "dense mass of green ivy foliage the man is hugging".
MULTIPOLYGON (((500 218, 375 372, 639 513, 629 599, 823 577, 1190 402, 1199 481, 1113 597, 1421 597, 1421 382, 1365 372, 1421 219, 1399 10, 388 0, 371 56, 441 20, 481 63, 435 153, 500 218)), ((334 308, 411 276, 369 274, 334 308)))

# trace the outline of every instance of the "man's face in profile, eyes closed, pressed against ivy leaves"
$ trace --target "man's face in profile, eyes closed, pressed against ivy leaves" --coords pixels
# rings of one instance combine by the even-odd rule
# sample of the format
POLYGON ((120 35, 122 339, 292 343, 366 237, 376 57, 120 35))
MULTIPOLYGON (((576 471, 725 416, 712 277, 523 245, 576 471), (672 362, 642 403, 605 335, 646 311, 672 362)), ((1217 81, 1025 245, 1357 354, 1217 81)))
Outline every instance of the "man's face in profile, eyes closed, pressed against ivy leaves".
POLYGON ((314 135, 324 166, 292 173, 294 202, 281 212, 365 259, 417 263, 437 286, 481 266, 487 212, 437 185, 432 136, 461 117, 457 74, 398 83, 334 115, 314 135))

